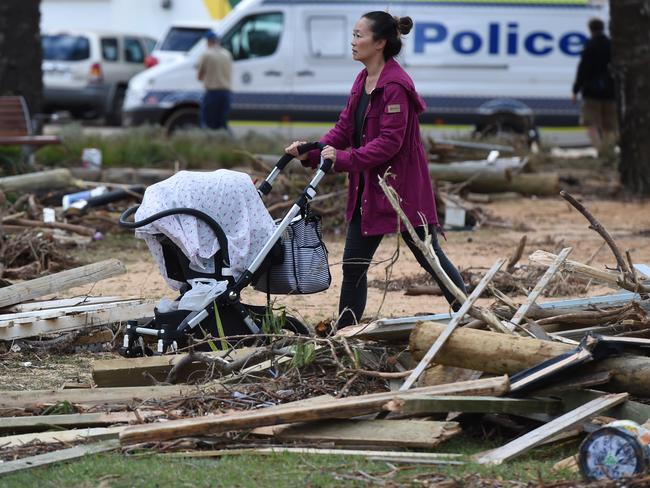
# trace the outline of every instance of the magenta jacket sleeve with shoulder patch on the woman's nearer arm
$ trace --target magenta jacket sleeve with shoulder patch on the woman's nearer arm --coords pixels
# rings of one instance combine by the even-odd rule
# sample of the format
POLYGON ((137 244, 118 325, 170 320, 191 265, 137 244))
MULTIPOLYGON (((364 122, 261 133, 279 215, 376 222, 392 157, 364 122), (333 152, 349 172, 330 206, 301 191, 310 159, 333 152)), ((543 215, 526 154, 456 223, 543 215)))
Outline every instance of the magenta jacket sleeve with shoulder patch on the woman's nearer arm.
POLYGON ((386 85, 383 105, 379 136, 360 148, 336 151, 336 171, 361 172, 390 161, 398 153, 408 123, 409 98, 404 87, 386 85))

